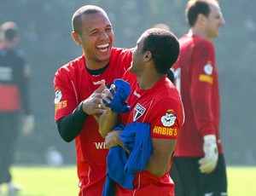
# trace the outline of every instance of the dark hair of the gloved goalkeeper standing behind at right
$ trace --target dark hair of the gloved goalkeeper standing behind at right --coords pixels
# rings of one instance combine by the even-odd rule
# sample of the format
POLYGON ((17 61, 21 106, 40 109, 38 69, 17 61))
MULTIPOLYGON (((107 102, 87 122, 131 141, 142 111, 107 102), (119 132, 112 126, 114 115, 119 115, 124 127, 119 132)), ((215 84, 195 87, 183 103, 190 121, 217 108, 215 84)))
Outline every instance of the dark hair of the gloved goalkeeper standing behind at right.
POLYGON ((198 14, 208 16, 210 14, 210 6, 207 1, 190 1, 187 5, 185 15, 189 22, 189 26, 195 26, 198 14))

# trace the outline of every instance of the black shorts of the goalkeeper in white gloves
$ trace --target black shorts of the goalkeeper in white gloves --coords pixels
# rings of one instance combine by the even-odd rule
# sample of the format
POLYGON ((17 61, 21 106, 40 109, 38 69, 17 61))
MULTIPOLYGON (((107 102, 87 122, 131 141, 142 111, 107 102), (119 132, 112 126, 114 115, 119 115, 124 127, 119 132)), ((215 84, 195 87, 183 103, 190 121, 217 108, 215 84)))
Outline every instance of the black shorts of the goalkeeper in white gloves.
POLYGON ((174 157, 170 175, 176 196, 226 196, 227 175, 224 155, 218 155, 218 164, 211 174, 202 174, 198 160, 201 157, 174 157))

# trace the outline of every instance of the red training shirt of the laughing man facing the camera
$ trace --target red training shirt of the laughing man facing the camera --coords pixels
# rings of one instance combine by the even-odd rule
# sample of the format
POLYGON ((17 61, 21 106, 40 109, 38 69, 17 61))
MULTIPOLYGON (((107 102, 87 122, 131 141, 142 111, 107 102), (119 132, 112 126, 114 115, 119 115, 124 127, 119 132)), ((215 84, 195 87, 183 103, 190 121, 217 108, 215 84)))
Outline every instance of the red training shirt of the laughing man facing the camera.
MULTIPOLYGON (((131 66, 131 60, 130 49, 113 48, 108 68, 100 75, 90 75, 85 68, 84 55, 62 66, 54 78, 55 121, 73 112, 81 101, 100 86, 102 79, 109 84, 113 83, 115 78, 121 78, 131 66)), ((106 177, 108 149, 93 116, 89 116, 84 122, 83 130, 75 138, 75 145, 81 193, 101 195, 106 177)))

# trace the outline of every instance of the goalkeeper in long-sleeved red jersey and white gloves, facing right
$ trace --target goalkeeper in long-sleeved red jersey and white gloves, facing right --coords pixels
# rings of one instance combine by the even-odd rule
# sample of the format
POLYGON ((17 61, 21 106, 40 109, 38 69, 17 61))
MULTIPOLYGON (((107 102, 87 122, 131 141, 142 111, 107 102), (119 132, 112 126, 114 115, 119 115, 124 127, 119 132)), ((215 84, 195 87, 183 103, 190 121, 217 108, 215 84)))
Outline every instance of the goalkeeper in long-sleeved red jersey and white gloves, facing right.
POLYGON ((176 196, 227 195, 224 149, 219 135, 218 72, 212 38, 224 18, 216 0, 190 0, 189 33, 179 38, 174 69, 185 122, 177 136, 171 176, 176 196))

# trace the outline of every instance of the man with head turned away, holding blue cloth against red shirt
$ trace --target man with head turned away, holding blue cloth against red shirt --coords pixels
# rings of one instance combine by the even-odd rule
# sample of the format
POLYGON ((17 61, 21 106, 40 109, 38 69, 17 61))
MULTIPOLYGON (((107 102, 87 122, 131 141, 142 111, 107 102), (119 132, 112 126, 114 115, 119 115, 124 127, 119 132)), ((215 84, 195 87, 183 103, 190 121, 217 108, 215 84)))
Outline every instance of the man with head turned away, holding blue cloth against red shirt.
MULTIPOLYGON (((114 106, 115 99, 119 96, 115 96, 115 93, 112 94, 108 89, 102 91, 102 99, 110 104, 110 107, 102 101, 106 111, 99 119, 99 130, 105 137, 106 145, 110 148, 109 152, 115 147, 125 147, 125 142, 120 136, 129 131, 126 129, 132 128, 132 135, 145 133, 141 138, 142 142, 148 141, 146 138, 149 135, 149 144, 146 148, 143 148, 143 145, 132 149, 132 153, 145 152, 139 156, 143 160, 135 160, 139 164, 145 161, 145 167, 129 173, 134 175, 131 182, 133 187, 129 187, 129 183, 128 185, 124 183, 127 187, 122 184, 128 175, 116 181, 115 195, 174 195, 174 184, 169 171, 176 138, 184 117, 182 101, 177 89, 167 78, 167 72, 177 61, 178 54, 179 44, 172 32, 160 28, 148 29, 138 38, 131 67, 123 76, 123 80, 131 85, 131 95, 126 100, 131 111, 113 112, 113 107, 119 107, 119 104, 114 106), (125 125, 125 130, 113 130, 117 124, 125 125), (144 159, 146 152, 150 153, 147 160, 144 159)), ((112 88, 113 92, 116 89, 116 93, 119 93, 119 87, 112 86, 112 88)), ((128 132, 128 135, 131 132, 128 132)), ((132 144, 130 140, 128 142, 132 144)), ((133 157, 132 153, 130 157, 133 157)), ((113 156, 116 158, 113 160, 115 162, 119 155, 113 154, 113 156)), ((111 164, 115 163, 108 163, 108 166, 111 167, 111 164)), ((131 165, 132 168, 137 168, 136 165, 131 165)), ((125 168, 129 166, 125 164, 125 168)), ((114 169, 120 172, 124 170, 121 167, 114 169)))

